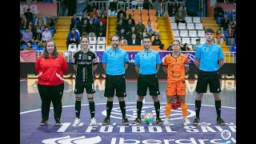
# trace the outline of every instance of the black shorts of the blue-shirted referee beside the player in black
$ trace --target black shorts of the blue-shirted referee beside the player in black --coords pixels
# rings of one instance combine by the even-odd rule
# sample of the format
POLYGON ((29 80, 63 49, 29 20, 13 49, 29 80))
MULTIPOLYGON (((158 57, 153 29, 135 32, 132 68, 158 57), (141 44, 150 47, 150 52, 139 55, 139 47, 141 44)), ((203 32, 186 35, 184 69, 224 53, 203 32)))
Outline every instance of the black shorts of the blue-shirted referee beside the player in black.
POLYGON ((126 77, 124 74, 114 76, 106 74, 104 96, 106 98, 114 97, 114 90, 115 96, 126 97, 126 77))

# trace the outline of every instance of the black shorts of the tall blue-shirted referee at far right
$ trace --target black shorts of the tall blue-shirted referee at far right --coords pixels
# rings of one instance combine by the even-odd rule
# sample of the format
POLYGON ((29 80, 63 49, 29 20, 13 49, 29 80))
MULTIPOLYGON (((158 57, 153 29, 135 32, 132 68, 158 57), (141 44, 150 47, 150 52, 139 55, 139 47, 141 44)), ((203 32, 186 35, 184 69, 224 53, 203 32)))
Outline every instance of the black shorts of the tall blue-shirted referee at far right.
POLYGON ((218 70, 210 72, 199 70, 198 83, 195 91, 198 93, 206 93, 208 84, 210 86, 210 93, 219 93, 222 91, 218 70))

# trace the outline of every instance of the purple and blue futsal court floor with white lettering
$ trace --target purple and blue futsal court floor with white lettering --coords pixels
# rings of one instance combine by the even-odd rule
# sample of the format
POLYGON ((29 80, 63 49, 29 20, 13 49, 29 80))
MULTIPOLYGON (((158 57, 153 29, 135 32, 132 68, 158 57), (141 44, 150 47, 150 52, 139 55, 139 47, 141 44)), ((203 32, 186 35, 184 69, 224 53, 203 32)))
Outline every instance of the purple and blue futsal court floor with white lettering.
MULTIPOLYGON (((94 94, 95 118, 97 126, 90 126, 90 110, 86 94, 82 98, 81 120, 79 126, 72 126, 74 113, 74 78, 66 78, 62 97, 61 126, 55 126, 53 109, 50 109, 48 125, 40 126, 41 98, 38 94, 37 78, 20 80, 20 143, 22 144, 138 144, 138 143, 236 143, 236 81, 221 80, 222 89, 222 118, 226 126, 216 123, 216 110, 213 94, 207 92, 202 98, 200 111, 201 123, 193 126, 195 118, 194 95, 197 80, 186 80, 186 102, 188 105, 188 118, 191 124, 182 123, 182 110, 171 110, 170 125, 161 126, 155 121, 152 125, 142 123, 133 125, 137 117, 137 81, 126 80, 126 118, 130 125, 122 124, 122 113, 119 109, 118 99, 114 98, 114 106, 110 116, 110 125, 102 126, 106 117, 106 98, 104 97, 105 79, 95 79, 94 94), (231 132, 230 141, 222 141, 222 130, 231 132)), ((166 81, 159 82, 161 102, 160 118, 166 118, 166 81)), ((208 87, 209 90, 209 87, 208 87)), ((142 107, 144 114, 154 111, 154 103, 147 93, 142 107)))

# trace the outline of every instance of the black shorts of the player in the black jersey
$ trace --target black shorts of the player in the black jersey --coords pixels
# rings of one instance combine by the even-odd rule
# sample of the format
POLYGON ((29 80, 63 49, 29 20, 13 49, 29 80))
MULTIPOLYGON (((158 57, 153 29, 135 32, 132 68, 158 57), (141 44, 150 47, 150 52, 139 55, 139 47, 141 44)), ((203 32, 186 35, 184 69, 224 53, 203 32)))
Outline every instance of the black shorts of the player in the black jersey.
POLYGON ((74 94, 83 94, 83 91, 86 88, 86 94, 94 94, 94 81, 89 82, 75 82, 74 94))

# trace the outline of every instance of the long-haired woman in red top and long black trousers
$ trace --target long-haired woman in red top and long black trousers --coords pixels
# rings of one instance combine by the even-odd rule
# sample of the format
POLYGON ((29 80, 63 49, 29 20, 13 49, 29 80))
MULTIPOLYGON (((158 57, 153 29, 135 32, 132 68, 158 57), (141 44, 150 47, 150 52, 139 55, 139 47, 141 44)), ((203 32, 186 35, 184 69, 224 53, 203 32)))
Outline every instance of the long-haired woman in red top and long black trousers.
POLYGON ((45 50, 35 62, 35 71, 38 73, 38 92, 42 99, 42 122, 40 125, 47 124, 50 102, 53 102, 54 106, 55 125, 61 125, 63 74, 67 69, 66 59, 62 54, 58 54, 54 40, 48 40, 45 50))

